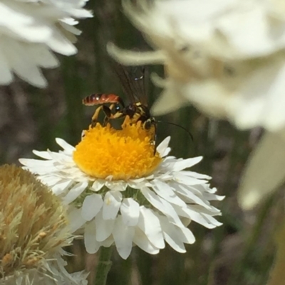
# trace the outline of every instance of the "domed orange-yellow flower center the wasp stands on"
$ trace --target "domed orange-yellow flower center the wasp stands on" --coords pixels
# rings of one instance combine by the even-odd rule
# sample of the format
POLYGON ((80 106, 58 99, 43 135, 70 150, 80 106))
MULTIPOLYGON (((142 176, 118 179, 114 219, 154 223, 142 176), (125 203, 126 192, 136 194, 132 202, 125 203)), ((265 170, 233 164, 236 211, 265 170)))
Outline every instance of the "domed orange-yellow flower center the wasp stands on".
POLYGON ((128 180, 147 176, 162 160, 155 151, 154 131, 154 127, 143 129, 141 122, 130 124, 129 117, 119 130, 98 123, 85 131, 73 160, 81 171, 95 178, 128 180))

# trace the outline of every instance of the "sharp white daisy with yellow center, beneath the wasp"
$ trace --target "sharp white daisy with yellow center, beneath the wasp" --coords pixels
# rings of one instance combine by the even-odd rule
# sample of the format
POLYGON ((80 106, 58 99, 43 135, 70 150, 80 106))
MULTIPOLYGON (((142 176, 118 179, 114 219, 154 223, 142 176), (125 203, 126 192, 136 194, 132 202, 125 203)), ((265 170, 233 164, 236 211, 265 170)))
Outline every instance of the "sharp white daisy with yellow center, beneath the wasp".
POLYGON ((128 117, 122 128, 96 124, 76 148, 56 139, 63 151, 33 151, 44 160, 20 161, 70 205, 71 226, 83 229, 89 253, 115 244, 126 259, 133 245, 157 254, 165 242, 185 252, 195 242, 191 221, 221 225, 210 201, 222 197, 209 187, 209 176, 185 170, 202 157, 167 156, 169 137, 155 151, 153 132, 128 117))

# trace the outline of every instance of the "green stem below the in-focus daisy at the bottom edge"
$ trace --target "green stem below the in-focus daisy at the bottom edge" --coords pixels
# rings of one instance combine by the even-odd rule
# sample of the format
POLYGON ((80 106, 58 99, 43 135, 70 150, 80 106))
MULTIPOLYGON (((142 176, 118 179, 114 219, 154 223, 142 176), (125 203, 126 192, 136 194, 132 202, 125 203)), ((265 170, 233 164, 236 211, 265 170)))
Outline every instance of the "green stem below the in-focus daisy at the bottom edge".
POLYGON ((110 261, 113 252, 113 247, 101 247, 97 271, 95 276, 95 285, 105 285, 107 276, 112 266, 110 261))

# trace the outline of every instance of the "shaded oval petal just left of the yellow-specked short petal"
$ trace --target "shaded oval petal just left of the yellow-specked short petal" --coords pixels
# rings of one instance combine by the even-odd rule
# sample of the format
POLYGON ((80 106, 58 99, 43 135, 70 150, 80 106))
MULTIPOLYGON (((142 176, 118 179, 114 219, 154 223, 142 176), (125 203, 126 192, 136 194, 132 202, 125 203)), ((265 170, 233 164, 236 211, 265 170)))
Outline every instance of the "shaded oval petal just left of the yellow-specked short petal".
POLYGON ((88 195, 82 205, 81 215, 84 219, 90 221, 98 214, 103 205, 103 199, 99 194, 88 195))

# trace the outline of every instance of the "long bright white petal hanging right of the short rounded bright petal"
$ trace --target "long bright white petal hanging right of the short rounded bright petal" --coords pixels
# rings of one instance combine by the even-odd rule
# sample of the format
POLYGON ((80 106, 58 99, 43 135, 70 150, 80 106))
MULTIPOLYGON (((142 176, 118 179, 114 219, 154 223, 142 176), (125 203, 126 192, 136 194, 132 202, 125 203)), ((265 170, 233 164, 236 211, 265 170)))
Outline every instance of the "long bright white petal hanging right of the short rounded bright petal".
POLYGON ((148 240, 150 240, 155 247, 160 249, 165 247, 160 220, 158 220, 152 210, 147 209, 144 206, 140 207, 138 227, 145 233, 148 240))

